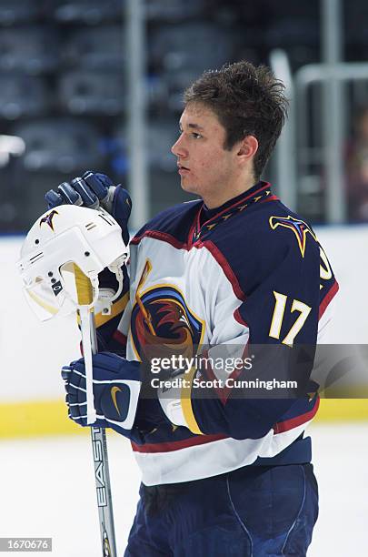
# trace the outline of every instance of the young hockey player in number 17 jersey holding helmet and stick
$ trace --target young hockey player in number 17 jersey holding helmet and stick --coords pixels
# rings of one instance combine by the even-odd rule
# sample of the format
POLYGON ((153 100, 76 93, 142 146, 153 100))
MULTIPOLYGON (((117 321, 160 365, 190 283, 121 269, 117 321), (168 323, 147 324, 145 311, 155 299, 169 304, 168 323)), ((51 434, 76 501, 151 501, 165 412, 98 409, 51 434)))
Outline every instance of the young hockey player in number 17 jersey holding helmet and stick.
MULTIPOLYGON (((113 401, 94 393, 103 424, 131 439, 142 470, 126 557, 302 557, 311 542, 318 493, 303 432, 318 395, 251 397, 244 383, 227 383, 249 377, 245 356, 258 345, 265 363, 256 372, 293 375, 285 350, 315 346, 338 289, 313 229, 260 181, 286 105, 270 70, 247 62, 206 72, 186 90, 172 151, 182 187, 201 199, 165 210, 135 235, 130 299, 123 316, 99 329, 108 353, 94 356, 94 373, 108 380, 108 394, 114 378, 131 377, 133 361, 190 362, 185 370, 173 364, 164 385, 151 381, 142 391, 132 430, 119 427, 128 392, 114 391, 113 401), (126 360, 117 355, 122 347, 126 360), (270 362, 272 349, 281 351, 270 362), (195 354, 202 360, 191 360, 195 354), (217 369, 218 354, 242 355, 244 365, 217 369)), ((91 206, 97 197, 126 228, 124 190, 103 175, 47 194, 50 206, 91 206)), ((84 360, 63 375, 71 418, 85 425, 77 389, 84 360)))

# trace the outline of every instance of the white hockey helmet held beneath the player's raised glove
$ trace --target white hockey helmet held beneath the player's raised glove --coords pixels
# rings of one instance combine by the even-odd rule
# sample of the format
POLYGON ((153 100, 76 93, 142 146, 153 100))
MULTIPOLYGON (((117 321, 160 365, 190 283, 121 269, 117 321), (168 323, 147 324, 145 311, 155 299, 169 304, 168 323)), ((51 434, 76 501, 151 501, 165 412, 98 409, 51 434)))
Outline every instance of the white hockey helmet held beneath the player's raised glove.
POLYGON ((121 267, 127 255, 122 230, 104 209, 50 209, 37 218, 21 249, 18 268, 26 299, 42 320, 75 311, 75 264, 92 284, 94 299, 88 307, 98 299, 98 273, 106 267, 115 273, 119 289, 105 301, 109 306, 123 289, 121 267))

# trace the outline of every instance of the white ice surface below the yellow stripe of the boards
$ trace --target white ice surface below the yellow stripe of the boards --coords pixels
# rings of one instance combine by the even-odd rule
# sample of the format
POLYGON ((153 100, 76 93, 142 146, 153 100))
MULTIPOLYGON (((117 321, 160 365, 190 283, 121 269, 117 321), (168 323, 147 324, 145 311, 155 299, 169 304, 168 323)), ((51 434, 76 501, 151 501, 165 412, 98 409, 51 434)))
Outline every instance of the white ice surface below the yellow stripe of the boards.
MULTIPOLYGON (((309 433, 320 517, 308 556, 366 557, 368 423, 316 424, 309 433)), ((134 517, 139 472, 128 441, 114 434, 108 448, 121 557, 134 517)), ((0 537, 53 538, 52 553, 33 555, 101 557, 88 436, 0 441, 0 472, 0 537)))

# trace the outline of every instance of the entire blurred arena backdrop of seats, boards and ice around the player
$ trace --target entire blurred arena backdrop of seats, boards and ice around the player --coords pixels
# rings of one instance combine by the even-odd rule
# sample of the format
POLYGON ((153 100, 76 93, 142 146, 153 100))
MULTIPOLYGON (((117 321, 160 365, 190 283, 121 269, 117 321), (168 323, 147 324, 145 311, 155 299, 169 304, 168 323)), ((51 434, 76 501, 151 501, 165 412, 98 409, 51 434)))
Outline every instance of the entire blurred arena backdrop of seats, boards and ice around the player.
MULTIPOLYGON (((89 441, 59 376, 79 334, 26 306, 25 233, 45 192, 86 169, 129 189, 132 230, 190 199, 170 147, 184 87, 205 69, 247 59, 283 80, 290 116, 264 179, 313 223, 339 280, 327 341, 368 344, 367 28, 366 0, 0 0, 0 537, 100 554, 89 441)), ((322 400, 311 433, 321 513, 308 554, 365 557, 368 401, 322 400)), ((139 475, 127 441, 111 448, 122 551, 139 475)))

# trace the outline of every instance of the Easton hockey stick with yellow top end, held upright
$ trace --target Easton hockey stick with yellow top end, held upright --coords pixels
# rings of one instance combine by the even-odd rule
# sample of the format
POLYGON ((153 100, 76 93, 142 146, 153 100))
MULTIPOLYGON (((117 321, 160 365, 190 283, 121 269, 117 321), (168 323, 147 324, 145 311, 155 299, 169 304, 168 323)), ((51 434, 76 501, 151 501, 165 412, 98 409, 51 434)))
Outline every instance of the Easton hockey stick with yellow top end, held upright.
MULTIPOLYGON (((87 390, 87 423, 95 420, 94 393, 92 383, 92 355, 97 352, 97 338, 94 311, 89 306, 93 300, 90 279, 77 266, 75 268, 75 288, 78 313, 82 333, 82 347, 85 356, 85 381, 87 390)), ((104 428, 91 427, 92 451, 94 456, 94 479, 97 495, 98 516, 102 540, 103 557, 116 557, 114 533, 114 512, 111 495, 109 465, 107 457, 106 432, 104 428)))

